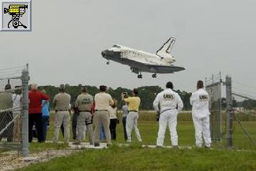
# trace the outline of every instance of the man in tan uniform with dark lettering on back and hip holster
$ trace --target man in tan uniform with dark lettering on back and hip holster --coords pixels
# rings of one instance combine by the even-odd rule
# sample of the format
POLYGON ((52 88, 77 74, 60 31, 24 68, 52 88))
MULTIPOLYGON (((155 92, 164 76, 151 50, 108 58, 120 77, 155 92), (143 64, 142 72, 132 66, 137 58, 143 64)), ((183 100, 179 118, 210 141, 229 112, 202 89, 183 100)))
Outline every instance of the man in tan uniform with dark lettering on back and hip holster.
POLYGON ((81 95, 77 96, 75 107, 78 107, 79 114, 77 117, 77 142, 81 144, 83 135, 85 135, 85 125, 88 130, 90 144, 93 145, 93 129, 92 129, 92 109, 93 97, 87 93, 87 87, 81 88, 81 95))

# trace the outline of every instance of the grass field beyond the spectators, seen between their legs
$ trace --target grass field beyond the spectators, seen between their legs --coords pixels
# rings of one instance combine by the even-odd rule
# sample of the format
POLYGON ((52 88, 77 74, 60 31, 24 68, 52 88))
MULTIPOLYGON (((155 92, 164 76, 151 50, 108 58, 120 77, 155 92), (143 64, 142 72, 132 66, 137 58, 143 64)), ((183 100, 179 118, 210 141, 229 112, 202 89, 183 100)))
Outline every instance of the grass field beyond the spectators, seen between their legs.
MULTIPOLYGON (((53 116, 52 114, 51 116, 53 116)), ((123 138, 123 128, 121 121, 121 113, 119 113, 120 123, 117 125, 117 143, 125 143, 123 138)), ((194 146, 194 125, 191 119, 191 113, 179 113, 177 132, 179 135, 179 146, 194 146)), ((243 125, 247 128, 247 131, 250 132, 250 136, 256 141, 256 122, 255 121, 244 121, 243 125)), ((141 132, 141 138, 145 144, 156 144, 156 136, 158 132, 158 122, 156 121, 156 114, 149 112, 141 112, 138 121, 138 128, 141 132)), ((233 143, 235 149, 247 149, 247 150, 256 150, 256 146, 250 143, 250 140, 244 134, 240 125, 237 122, 234 122, 234 136, 233 143)), ((225 123, 223 122, 222 131, 224 132, 223 139, 221 143, 213 144, 217 148, 226 147, 225 139, 225 123)), ((167 131, 165 133, 164 145, 171 145, 170 133, 167 131)), ((133 135, 136 137, 135 135, 133 135)), ((47 139, 51 140, 54 137, 54 123, 53 117, 51 117, 51 126, 47 132, 47 139)), ((70 140, 72 141, 72 131, 70 128, 70 140)), ((86 135, 86 142, 88 142, 88 135, 86 135)), ((62 134, 59 134, 59 140, 62 141, 62 134)))

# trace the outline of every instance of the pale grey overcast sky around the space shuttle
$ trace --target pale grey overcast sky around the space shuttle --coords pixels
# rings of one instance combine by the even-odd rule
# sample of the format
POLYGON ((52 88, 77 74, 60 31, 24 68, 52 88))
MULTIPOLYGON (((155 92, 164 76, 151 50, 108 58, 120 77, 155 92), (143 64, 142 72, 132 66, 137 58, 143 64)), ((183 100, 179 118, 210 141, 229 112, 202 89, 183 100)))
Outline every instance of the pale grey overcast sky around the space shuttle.
POLYGON ((256 92, 255 6, 254 0, 32 0, 32 32, 0 32, 0 69, 28 63, 30 81, 39 85, 134 88, 172 81, 183 91, 221 72, 256 92), (114 44, 155 53, 170 36, 182 72, 156 79, 143 73, 141 80, 129 66, 106 65, 101 57, 114 44))

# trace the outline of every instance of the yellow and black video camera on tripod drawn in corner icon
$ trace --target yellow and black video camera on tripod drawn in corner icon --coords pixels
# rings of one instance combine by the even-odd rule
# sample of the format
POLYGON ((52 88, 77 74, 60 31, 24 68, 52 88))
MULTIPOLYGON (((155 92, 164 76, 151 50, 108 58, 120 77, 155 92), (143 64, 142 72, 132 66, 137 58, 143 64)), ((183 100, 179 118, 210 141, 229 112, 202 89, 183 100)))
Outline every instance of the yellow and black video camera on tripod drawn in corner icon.
POLYGON ((26 9, 28 9, 28 5, 9 5, 9 9, 4 8, 4 13, 9 13, 12 16, 12 19, 9 20, 8 28, 10 23, 13 23, 13 28, 19 28, 20 26, 27 28, 20 21, 20 17, 26 13, 26 9))

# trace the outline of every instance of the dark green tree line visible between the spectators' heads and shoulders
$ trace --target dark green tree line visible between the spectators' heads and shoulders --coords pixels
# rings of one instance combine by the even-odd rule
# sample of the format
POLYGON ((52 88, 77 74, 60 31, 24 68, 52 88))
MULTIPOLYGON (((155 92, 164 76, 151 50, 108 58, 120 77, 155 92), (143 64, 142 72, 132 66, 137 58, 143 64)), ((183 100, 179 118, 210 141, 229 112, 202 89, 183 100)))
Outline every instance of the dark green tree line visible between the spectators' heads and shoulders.
MULTIPOLYGON (((74 101, 77 95, 80 95, 81 87, 82 87, 81 84, 77 86, 70 86, 69 84, 66 84, 66 93, 71 95, 71 102, 74 101)), ((98 87, 89 86, 89 85, 87 87, 88 87, 88 93, 91 94, 92 96, 96 95, 96 93, 99 92, 98 87)), ((47 86, 40 86, 39 89, 46 91, 47 95, 49 95, 51 98, 50 106, 53 106, 52 100, 55 97, 55 95, 58 94, 58 87, 47 85, 47 86)), ((163 91, 163 88, 159 86, 144 86, 144 87, 138 87, 137 90, 138 90, 138 96, 141 98, 140 110, 153 110, 152 102, 156 98, 156 95, 160 91, 163 91)), ((132 95, 132 90, 125 87, 117 87, 115 89, 111 87, 108 88, 108 93, 118 101, 119 109, 122 108, 122 102, 121 102, 122 92, 127 92, 128 95, 132 95)), ((180 91, 180 90, 177 90, 176 92, 180 95, 181 99, 183 99, 183 103, 184 103, 183 110, 191 110, 191 106, 190 106, 191 93, 186 91, 180 91)))

